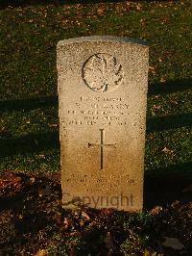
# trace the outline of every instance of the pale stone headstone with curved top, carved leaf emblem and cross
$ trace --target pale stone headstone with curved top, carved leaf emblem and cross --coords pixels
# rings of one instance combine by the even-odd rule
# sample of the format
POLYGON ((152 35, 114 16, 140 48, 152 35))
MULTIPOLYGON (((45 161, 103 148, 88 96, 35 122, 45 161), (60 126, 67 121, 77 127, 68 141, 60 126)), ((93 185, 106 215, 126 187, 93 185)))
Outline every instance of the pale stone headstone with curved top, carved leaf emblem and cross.
POLYGON ((64 207, 142 209, 148 50, 129 38, 58 43, 64 207))

